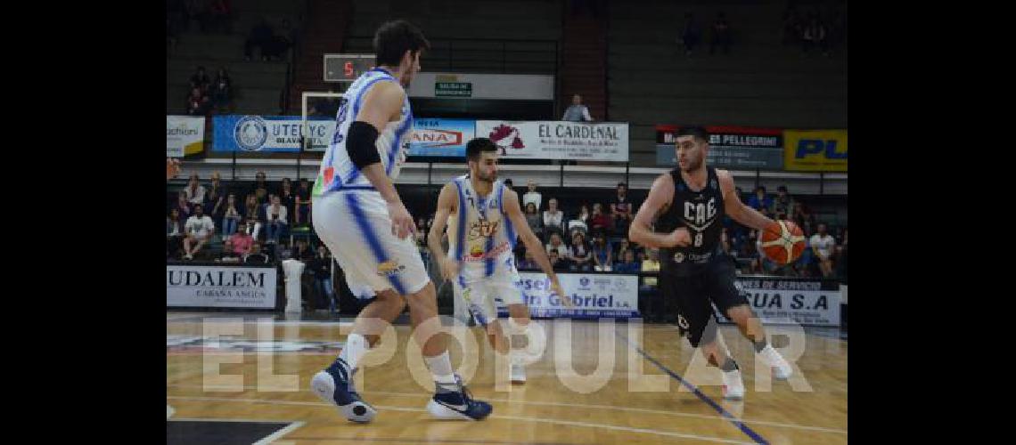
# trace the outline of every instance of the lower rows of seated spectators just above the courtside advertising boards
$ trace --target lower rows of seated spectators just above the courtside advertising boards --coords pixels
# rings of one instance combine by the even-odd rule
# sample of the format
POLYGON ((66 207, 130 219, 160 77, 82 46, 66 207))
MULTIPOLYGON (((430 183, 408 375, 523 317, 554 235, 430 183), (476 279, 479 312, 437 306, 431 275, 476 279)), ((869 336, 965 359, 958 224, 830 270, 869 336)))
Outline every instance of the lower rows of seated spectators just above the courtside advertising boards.
MULTIPOLYGON (((184 189, 171 194, 167 216, 167 258, 179 261, 277 263, 285 258, 309 261, 320 245, 310 225, 311 184, 301 178, 269 183, 263 172, 252 182, 226 184, 217 172, 201 183, 191 175, 184 189), (175 198, 174 198, 175 196, 175 198), (291 236, 293 235, 293 236, 291 236), (292 238, 292 239, 291 239, 292 238)), ((520 191, 521 192, 521 191, 520 191)), ((743 274, 826 277, 846 276, 846 227, 819 221, 809 206, 796 200, 785 187, 775 195, 763 187, 751 195, 738 189, 748 206, 773 219, 793 221, 805 234, 802 257, 779 267, 759 254, 759 231, 724 217, 721 244, 743 274)), ((571 202, 559 207, 557 198, 544 197, 529 182, 522 195, 523 213, 539 238, 554 269, 559 272, 651 272, 659 270, 658 251, 628 239, 628 228, 640 203, 619 183, 611 197, 593 202, 571 202)), ((426 233, 433 222, 419 218, 417 241, 425 258, 426 233)), ((523 243, 516 245, 520 270, 538 270, 523 243)))

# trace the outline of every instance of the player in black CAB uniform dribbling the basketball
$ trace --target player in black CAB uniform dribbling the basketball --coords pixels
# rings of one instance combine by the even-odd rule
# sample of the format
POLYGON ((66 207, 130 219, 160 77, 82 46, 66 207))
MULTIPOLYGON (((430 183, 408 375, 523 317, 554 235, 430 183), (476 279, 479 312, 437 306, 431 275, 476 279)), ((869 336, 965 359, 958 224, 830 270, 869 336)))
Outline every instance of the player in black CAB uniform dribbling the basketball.
POLYGON ((692 347, 702 347, 710 365, 723 371, 724 398, 742 398, 741 372, 718 339, 710 302, 752 341, 762 362, 776 368, 776 378, 788 378, 793 368, 768 345, 761 321, 735 286, 734 261, 720 245, 721 221, 725 214, 753 229, 778 227, 778 223, 741 203, 728 171, 706 166, 709 133, 705 129, 680 129, 676 145, 679 168, 652 182, 632 221, 629 238, 660 249, 660 290, 663 298, 677 302, 682 333, 692 347), (654 219, 655 232, 650 229, 654 219))

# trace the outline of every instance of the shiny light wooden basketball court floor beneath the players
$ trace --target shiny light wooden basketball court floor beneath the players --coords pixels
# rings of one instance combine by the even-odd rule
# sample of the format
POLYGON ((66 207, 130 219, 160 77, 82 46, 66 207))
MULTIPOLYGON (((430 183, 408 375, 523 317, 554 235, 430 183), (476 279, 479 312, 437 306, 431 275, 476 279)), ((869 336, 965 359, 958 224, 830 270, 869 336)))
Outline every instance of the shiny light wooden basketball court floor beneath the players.
POLYGON ((467 346, 451 344, 452 362, 473 396, 494 405, 487 420, 462 422, 429 417, 430 374, 409 326, 396 325, 357 374, 362 395, 379 410, 373 423, 357 425, 309 391, 314 373, 338 354, 348 321, 167 313, 168 426, 288 425, 257 442, 276 444, 847 441, 847 349, 835 333, 769 326, 773 345, 797 357, 795 376, 777 381, 756 366, 750 343, 722 326, 747 387, 744 401, 725 401, 719 371, 706 368, 674 325, 542 320, 548 348, 527 366, 524 385, 506 381, 507 365, 479 328, 461 327, 455 332, 467 346))

